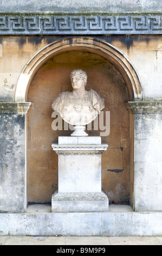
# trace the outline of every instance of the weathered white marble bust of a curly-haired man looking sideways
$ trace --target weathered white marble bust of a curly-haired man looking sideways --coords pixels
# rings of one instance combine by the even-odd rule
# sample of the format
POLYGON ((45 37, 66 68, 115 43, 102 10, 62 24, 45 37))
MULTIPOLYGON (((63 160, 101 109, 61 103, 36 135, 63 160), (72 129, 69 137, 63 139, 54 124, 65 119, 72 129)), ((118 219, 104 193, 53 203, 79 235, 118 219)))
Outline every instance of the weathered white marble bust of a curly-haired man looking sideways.
POLYGON ((105 107, 103 98, 94 90, 86 90, 87 74, 81 69, 70 74, 72 92, 63 92, 54 99, 52 108, 68 124, 82 126, 91 123, 105 107))

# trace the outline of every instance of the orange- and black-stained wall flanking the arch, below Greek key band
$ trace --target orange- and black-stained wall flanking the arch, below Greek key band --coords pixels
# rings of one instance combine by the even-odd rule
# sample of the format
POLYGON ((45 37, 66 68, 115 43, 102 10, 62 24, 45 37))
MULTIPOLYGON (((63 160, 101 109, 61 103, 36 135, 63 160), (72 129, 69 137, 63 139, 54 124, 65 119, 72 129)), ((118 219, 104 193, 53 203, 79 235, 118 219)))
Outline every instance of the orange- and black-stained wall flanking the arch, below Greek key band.
MULTIPOLYGON (((98 38, 117 47, 131 60, 139 74, 146 101, 161 100, 160 35, 105 35, 98 38)), ((58 39, 60 36, 0 36, 1 101, 14 101, 18 78, 28 60, 42 47, 58 39)))

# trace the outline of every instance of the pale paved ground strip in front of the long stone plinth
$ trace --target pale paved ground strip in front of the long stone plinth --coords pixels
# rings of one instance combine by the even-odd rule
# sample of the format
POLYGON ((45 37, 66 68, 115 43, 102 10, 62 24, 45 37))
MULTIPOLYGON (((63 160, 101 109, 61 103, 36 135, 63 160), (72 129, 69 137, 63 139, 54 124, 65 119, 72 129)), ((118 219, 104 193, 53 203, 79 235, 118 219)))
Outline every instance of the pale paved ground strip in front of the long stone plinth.
POLYGON ((162 245, 162 236, 0 236, 0 245, 95 245, 103 251, 108 245, 162 245))

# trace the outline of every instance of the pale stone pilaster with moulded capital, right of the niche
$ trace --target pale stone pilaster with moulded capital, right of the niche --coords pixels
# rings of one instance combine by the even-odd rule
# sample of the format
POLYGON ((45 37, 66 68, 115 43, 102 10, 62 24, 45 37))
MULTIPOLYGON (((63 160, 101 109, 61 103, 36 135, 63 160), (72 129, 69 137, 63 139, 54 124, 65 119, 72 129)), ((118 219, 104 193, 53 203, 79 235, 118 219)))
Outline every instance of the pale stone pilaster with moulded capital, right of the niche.
POLYGON ((134 113, 134 209, 162 210, 162 102, 129 102, 134 113))

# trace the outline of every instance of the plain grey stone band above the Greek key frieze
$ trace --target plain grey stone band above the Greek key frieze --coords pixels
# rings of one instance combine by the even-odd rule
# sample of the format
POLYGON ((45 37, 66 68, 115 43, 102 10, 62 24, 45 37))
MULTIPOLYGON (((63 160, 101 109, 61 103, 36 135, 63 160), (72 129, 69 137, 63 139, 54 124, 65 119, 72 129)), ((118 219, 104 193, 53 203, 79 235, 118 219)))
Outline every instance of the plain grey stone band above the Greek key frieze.
POLYGON ((40 0, 0 1, 1 11, 161 11, 160 0, 52 0, 50 2, 40 0))

